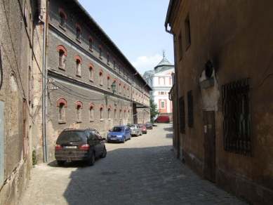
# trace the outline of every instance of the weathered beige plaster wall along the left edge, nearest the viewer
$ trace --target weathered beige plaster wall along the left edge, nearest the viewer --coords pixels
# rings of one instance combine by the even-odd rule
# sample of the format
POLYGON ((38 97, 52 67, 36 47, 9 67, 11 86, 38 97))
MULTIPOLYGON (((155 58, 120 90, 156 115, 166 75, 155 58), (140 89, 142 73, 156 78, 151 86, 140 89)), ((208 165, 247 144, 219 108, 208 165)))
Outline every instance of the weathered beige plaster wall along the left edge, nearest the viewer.
POLYGON ((30 144, 33 101, 29 95, 31 84, 29 76, 32 76, 33 71, 31 46, 32 19, 35 13, 32 8, 36 8, 36 5, 30 1, 21 4, 21 1, 15 0, 0 2, 0 47, 3 69, 0 100, 5 105, 3 121, 5 182, 0 187, 0 204, 17 204, 25 190, 32 168, 30 144))

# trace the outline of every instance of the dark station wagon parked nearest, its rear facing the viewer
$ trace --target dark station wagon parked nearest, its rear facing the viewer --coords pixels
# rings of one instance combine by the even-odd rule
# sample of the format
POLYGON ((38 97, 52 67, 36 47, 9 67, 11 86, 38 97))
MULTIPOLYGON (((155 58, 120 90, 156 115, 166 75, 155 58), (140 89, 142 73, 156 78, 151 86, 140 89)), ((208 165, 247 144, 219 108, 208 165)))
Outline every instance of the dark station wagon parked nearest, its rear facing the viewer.
POLYGON ((60 135, 55 145, 55 159, 59 166, 65 161, 87 161, 95 164, 95 157, 105 158, 105 138, 93 128, 67 128, 60 135))

